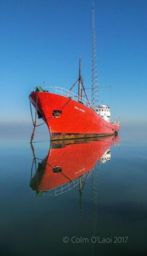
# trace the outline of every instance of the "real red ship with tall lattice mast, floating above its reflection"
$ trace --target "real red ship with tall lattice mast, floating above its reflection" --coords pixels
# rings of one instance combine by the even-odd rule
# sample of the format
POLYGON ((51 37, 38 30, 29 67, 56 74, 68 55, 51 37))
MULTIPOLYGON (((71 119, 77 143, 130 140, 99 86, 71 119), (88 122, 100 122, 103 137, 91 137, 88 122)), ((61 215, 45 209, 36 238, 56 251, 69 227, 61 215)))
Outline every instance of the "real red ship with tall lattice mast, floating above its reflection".
MULTIPOLYGON (((119 123, 110 122, 110 108, 106 105, 98 105, 94 6, 92 12, 92 104, 81 77, 81 59, 79 78, 70 90, 61 87, 49 87, 49 91, 47 91, 42 90, 41 87, 36 87, 29 96, 38 117, 42 118, 47 124, 51 140, 101 137, 117 134, 119 131, 119 123), (79 83, 79 90, 78 94, 75 94, 72 89, 77 82, 79 83), (82 95, 82 92, 84 92, 84 95, 82 95)), ((33 121, 33 124, 35 127, 36 120, 33 121)))

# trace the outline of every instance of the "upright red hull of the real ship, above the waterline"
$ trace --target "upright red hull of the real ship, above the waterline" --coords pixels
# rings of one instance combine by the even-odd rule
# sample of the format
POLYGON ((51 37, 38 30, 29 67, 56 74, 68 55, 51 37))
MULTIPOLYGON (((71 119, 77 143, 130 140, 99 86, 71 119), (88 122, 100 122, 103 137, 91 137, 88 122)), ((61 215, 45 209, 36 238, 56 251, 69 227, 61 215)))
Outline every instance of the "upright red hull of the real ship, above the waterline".
POLYGON ((48 125, 51 140, 116 134, 119 125, 108 123, 91 108, 71 98, 49 92, 33 92, 30 101, 48 125), (54 111, 60 111, 55 117, 54 111))

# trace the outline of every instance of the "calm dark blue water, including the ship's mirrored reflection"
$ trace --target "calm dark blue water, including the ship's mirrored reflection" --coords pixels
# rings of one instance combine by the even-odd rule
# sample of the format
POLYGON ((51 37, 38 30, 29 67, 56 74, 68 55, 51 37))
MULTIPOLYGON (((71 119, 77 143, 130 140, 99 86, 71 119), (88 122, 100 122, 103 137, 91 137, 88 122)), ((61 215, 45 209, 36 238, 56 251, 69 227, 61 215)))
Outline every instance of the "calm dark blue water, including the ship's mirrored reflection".
POLYGON ((145 135, 29 138, 1 136, 1 255, 147 254, 145 135))

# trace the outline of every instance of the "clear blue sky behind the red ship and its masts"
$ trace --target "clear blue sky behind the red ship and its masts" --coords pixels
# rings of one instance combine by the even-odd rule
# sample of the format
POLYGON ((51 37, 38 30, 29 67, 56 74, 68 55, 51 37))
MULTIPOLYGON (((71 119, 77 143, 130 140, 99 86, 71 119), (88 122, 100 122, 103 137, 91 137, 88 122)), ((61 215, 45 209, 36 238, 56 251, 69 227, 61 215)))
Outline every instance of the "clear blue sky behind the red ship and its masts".
MULTIPOLYGON (((146 124, 147 1, 94 2, 100 103, 114 120, 146 124)), ((43 82, 70 88, 80 56, 91 86, 91 7, 90 0, 1 0, 2 124, 30 123, 31 89, 43 82)))

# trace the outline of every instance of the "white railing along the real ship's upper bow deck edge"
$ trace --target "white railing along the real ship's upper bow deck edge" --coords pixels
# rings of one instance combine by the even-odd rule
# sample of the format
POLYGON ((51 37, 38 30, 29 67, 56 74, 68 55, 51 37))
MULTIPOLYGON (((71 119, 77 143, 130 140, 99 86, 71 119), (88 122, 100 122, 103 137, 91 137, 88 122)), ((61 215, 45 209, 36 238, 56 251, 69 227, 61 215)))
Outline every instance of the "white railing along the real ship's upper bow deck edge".
MULTIPOLYGON (((51 87, 44 87, 45 90, 49 91, 50 93, 56 93, 58 95, 62 95, 64 97, 67 97, 67 98, 71 98, 72 100, 75 100, 75 101, 79 101, 79 95, 77 95, 76 93, 72 92, 72 91, 69 91, 69 90, 66 90, 62 87, 58 87, 58 86, 51 86, 51 87)), ((90 104, 89 106, 89 103, 87 100, 83 99, 82 97, 82 104, 84 104, 85 106, 87 107, 91 107, 93 110, 94 110, 94 107, 90 104)))

